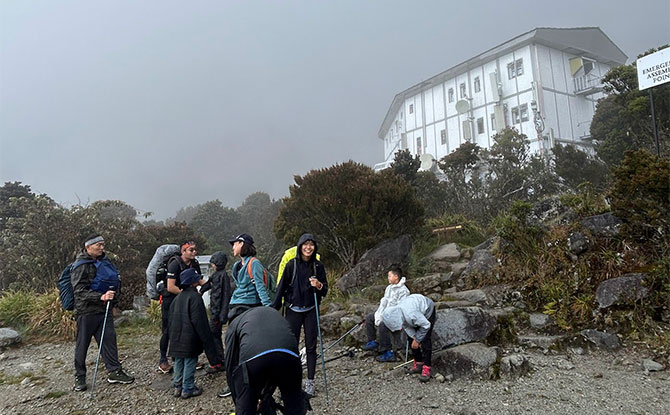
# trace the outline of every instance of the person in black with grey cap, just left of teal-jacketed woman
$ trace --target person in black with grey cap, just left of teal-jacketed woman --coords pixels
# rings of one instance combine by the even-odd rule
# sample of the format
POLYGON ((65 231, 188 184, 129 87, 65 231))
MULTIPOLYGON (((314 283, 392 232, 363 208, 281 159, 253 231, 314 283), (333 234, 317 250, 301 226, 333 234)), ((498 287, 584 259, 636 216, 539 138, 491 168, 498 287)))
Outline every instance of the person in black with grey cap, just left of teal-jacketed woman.
MULTIPOLYGON (((214 273, 209 277, 209 280, 200 287, 200 295, 211 290, 209 294, 209 328, 214 336, 214 343, 216 344, 216 354, 218 360, 223 362, 223 341, 221 340, 221 328, 228 321, 228 306, 230 304, 230 296, 232 294, 232 287, 230 286, 230 277, 226 272, 226 264, 228 257, 221 251, 214 252, 209 259, 209 266, 214 273)), ((207 373, 216 373, 224 369, 223 364, 218 366, 210 365, 207 368, 207 373)))

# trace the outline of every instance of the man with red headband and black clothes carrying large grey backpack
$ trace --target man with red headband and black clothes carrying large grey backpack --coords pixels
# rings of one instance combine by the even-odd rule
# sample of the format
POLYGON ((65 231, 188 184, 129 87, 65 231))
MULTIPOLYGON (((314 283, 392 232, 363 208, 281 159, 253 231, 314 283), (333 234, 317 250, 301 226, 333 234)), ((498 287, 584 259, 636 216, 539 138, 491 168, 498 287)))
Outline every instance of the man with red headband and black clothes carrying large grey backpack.
POLYGON ((172 366, 168 363, 167 359, 167 349, 170 341, 170 305, 175 297, 181 293, 179 275, 187 269, 193 269, 196 273, 200 274, 200 264, 195 259, 198 253, 195 242, 186 241, 182 243, 179 246, 179 252, 179 255, 175 255, 168 260, 167 293, 163 294, 161 300, 161 357, 158 362, 158 371, 161 373, 170 373, 170 370, 172 370, 172 366))

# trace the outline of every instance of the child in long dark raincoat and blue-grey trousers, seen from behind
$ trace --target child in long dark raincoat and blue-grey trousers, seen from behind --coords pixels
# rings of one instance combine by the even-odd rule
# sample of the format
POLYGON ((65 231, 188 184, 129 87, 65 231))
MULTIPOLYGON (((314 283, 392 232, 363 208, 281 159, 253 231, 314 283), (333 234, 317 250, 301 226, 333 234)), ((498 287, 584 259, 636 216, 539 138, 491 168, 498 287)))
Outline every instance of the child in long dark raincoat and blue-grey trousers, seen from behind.
POLYGON ((174 396, 188 399, 202 394, 195 384, 198 355, 205 350, 207 356, 216 356, 214 337, 207 325, 207 310, 197 286, 202 276, 193 268, 179 274, 179 288, 170 306, 170 340, 168 356, 174 359, 172 385, 174 396))

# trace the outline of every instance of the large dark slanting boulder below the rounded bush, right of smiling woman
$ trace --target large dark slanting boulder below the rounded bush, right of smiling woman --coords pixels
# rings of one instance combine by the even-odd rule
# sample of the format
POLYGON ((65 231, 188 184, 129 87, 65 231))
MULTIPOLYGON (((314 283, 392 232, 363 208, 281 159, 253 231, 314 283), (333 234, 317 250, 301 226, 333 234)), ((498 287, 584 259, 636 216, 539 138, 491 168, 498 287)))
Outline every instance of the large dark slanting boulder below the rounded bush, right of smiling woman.
POLYGON ((381 242, 363 254, 358 264, 340 277, 338 288, 342 292, 350 292, 370 285, 392 266, 407 264, 411 250, 412 238, 409 235, 381 242))

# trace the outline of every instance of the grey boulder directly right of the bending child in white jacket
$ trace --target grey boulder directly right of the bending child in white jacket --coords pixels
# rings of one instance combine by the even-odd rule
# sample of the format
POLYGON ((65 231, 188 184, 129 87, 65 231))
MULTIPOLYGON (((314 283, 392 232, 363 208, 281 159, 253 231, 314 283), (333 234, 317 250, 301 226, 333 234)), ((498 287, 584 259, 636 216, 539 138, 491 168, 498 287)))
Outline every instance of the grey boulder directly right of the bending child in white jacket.
POLYGON ((495 317, 480 307, 438 310, 433 327, 433 350, 451 344, 484 340, 496 326, 495 317))

